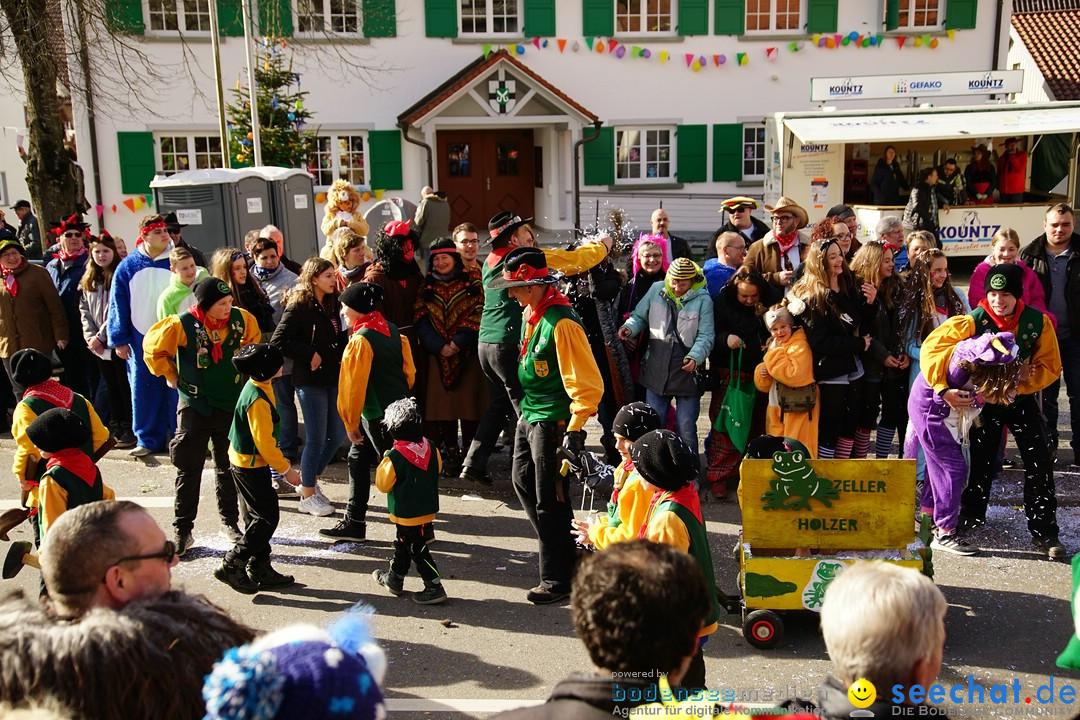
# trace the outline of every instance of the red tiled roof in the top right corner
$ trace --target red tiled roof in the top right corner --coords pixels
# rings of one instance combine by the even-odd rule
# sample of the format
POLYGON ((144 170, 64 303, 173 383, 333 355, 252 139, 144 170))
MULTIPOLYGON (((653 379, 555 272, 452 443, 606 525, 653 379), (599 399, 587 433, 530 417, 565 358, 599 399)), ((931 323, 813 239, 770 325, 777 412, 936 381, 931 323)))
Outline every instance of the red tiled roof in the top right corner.
POLYGON ((1055 100, 1080 100, 1080 8, 1014 12, 1013 28, 1055 100))

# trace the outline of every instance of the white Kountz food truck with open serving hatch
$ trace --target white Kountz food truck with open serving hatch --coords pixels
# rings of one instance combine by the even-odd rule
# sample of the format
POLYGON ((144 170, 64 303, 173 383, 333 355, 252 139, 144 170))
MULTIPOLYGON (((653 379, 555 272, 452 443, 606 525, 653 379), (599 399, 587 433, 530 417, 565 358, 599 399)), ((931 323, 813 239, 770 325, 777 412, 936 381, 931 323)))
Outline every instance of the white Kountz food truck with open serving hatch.
MULTIPOLYGON (((889 110, 816 110, 778 112, 766 120, 765 202, 780 195, 793 199, 811 220, 837 204, 851 205, 859 218, 861 240, 874 235, 883 215, 903 217, 904 205, 870 204, 874 167, 887 146, 897 153, 908 185, 923 167, 941 167, 955 158, 962 174, 972 150, 985 145, 990 162, 1004 150, 1004 140, 1018 137, 1028 154, 1024 202, 968 204, 939 213, 943 249, 955 256, 985 256, 1000 228, 1013 228, 1026 244, 1042 234, 1047 208, 1055 203, 1078 204, 1077 133, 1080 103, 982 105, 889 110), (1032 150, 1045 136, 1064 136, 1068 148, 1068 177, 1056 192, 1031 189, 1032 150)), ((902 199, 897 199, 897 203, 902 199)), ((991 199, 987 199, 989 201, 991 199)))

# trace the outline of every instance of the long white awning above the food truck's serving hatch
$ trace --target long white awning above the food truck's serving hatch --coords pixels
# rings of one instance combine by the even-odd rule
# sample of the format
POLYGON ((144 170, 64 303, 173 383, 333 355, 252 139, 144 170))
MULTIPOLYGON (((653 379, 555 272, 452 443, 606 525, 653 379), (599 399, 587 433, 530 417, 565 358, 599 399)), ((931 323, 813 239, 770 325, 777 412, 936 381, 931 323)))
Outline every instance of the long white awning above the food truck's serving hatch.
POLYGON ((1080 107, 1031 108, 961 112, 839 114, 784 118, 802 142, 877 142, 930 140, 941 137, 1001 137, 1080 131, 1080 107))

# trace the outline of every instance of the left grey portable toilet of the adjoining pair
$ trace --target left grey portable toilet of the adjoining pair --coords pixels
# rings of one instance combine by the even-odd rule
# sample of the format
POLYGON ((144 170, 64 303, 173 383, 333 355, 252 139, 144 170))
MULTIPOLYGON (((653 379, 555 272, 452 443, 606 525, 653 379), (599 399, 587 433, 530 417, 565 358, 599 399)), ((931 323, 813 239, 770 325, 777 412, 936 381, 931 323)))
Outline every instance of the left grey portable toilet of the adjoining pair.
POLYGON ((273 222, 270 186, 251 167, 191 169, 150 181, 158 212, 175 212, 184 240, 207 255, 241 247, 244 234, 273 222))

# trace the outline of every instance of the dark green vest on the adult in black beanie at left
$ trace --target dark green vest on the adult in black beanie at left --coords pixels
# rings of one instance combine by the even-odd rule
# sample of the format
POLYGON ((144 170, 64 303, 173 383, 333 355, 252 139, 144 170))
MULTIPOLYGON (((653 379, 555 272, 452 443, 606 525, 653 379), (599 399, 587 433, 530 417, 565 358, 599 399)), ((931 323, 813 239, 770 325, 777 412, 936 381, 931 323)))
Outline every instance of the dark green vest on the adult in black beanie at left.
POLYGON ((214 408, 231 412, 240 397, 243 378, 232 365, 232 356, 244 338, 244 316, 233 308, 229 314, 228 336, 221 343, 221 359, 211 358, 211 342, 206 328, 189 311, 179 314, 180 326, 188 342, 176 350, 177 390, 180 403, 199 415, 210 416, 214 408))

